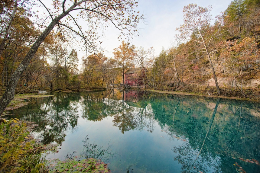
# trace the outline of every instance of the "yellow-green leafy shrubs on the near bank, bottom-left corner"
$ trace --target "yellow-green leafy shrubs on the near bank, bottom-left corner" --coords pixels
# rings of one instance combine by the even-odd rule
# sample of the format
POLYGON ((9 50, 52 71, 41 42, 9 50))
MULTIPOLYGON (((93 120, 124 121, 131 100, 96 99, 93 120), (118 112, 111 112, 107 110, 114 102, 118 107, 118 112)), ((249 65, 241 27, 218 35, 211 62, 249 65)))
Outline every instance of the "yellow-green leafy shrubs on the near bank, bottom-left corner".
POLYGON ((43 148, 29 139, 26 123, 18 119, 0 124, 0 172, 46 172, 43 148))

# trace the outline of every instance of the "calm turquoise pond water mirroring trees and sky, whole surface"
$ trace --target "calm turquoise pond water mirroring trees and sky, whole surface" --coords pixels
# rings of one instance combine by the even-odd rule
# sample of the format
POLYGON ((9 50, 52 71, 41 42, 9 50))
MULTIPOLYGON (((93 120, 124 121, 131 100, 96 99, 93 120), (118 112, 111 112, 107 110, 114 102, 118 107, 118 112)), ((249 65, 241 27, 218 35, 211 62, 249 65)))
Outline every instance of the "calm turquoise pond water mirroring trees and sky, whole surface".
POLYGON ((35 121, 43 143, 60 143, 47 158, 95 157, 112 172, 260 172, 252 102, 118 90, 31 102, 6 118, 35 121))

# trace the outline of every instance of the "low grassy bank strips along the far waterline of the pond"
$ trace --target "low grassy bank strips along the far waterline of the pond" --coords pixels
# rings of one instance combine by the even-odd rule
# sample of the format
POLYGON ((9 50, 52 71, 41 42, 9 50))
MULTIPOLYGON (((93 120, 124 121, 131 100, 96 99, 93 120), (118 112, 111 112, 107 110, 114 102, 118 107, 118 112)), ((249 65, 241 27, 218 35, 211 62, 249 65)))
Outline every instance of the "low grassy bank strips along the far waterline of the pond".
MULTIPOLYGON (((132 88, 132 89, 138 89, 138 88, 132 88)), ((73 91, 60 90, 55 92, 96 92, 96 91, 104 91, 104 90, 106 90, 106 88, 94 87, 94 88, 85 88, 85 89, 73 90, 73 91)), ((243 92, 245 96, 242 95, 241 91, 238 88, 220 88, 222 95, 218 95, 217 92, 215 91, 215 87, 203 87, 195 84, 188 84, 188 85, 186 84, 185 86, 179 87, 177 89, 165 88, 165 90, 154 90, 154 89, 141 89, 141 90, 154 91, 154 92, 166 93, 166 94, 176 94, 176 95, 196 95, 196 96, 212 97, 212 98, 247 100, 247 101, 260 103, 260 90, 258 88, 244 88, 243 92)), ((20 107, 29 104, 31 102, 29 98, 41 98, 41 97, 52 97, 52 96, 53 95, 42 95, 38 93, 15 95, 15 98, 5 109, 3 115, 6 114, 6 111, 18 109, 20 107)))

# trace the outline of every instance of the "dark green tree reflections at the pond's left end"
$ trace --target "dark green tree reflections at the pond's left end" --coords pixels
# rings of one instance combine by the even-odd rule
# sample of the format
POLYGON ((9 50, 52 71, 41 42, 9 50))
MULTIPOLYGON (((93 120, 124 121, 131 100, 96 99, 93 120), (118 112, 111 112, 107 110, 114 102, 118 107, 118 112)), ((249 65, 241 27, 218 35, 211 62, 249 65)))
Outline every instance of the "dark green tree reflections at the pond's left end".
POLYGON ((54 97, 31 98, 32 104, 14 110, 13 113, 21 120, 39 124, 34 129, 34 135, 42 143, 62 143, 66 131, 75 131, 77 128, 79 99, 78 93, 56 93, 54 97))

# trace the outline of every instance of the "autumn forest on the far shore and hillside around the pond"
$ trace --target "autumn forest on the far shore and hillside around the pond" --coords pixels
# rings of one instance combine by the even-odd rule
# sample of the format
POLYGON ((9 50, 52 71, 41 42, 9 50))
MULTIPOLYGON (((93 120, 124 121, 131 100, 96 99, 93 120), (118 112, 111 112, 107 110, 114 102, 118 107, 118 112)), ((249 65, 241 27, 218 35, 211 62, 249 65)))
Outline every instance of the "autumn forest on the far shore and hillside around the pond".
MULTIPOLYGON (((46 19, 31 13, 31 8, 35 5, 33 3, 26 0, 5 0, 0 4, 2 93, 7 92, 5 89, 9 88, 8 81, 44 30, 40 21, 46 19), (36 16, 34 21, 32 16, 36 16)), ((133 2, 128 3, 133 10, 133 2)), ((59 5, 61 3, 53 4, 57 13, 62 11, 59 5)), ((210 6, 184 6, 184 23, 176 26, 179 33, 176 35, 177 46, 167 50, 162 48, 158 56, 154 55, 153 47, 145 50, 122 41, 114 49, 114 57, 106 57, 93 44, 97 42, 93 31, 80 34, 80 29, 76 31, 69 27, 69 21, 76 23, 75 18, 69 14, 66 26, 70 31, 65 30, 65 24, 57 23, 57 28, 46 35, 31 56, 16 85, 12 85, 15 85, 16 93, 38 90, 74 91, 106 88, 110 85, 114 87, 114 84, 124 85, 124 72, 135 67, 146 69, 139 74, 144 88, 249 97, 252 93, 257 93, 260 86, 260 2, 234 0, 216 18, 210 15, 211 10, 210 6), (72 44, 73 39, 74 42, 78 39, 71 34, 73 31, 84 40, 78 41, 79 44, 93 50, 82 57, 80 64, 81 57, 78 57, 72 44), (86 37, 89 35, 93 35, 92 40, 86 37)), ((136 23, 142 20, 141 15, 133 16, 130 20, 136 23)), ((131 23, 126 22, 129 25, 131 23)), ((90 25, 94 27, 95 23, 90 25)), ((126 27, 121 28, 123 29, 126 27)))

